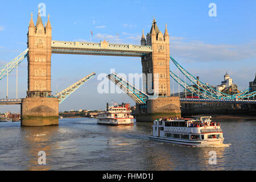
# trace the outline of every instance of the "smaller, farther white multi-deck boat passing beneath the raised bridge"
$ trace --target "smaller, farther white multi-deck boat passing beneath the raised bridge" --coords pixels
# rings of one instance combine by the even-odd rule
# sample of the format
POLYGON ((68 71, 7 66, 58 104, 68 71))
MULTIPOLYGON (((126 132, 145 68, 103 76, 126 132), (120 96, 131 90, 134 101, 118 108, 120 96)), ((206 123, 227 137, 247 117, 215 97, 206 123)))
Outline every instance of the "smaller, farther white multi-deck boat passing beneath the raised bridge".
POLYGON ((123 105, 109 107, 107 103, 106 111, 98 113, 97 123, 99 125, 133 125, 133 115, 131 110, 123 105))

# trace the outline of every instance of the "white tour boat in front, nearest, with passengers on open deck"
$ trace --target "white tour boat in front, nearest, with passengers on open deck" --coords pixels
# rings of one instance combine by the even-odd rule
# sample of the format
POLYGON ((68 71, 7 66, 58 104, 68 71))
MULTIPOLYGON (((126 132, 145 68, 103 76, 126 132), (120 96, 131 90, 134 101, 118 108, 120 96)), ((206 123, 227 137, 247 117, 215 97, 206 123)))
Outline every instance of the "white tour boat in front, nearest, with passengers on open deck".
POLYGON ((210 118, 212 117, 155 120, 150 138, 188 146, 222 144, 224 138, 221 127, 210 118))

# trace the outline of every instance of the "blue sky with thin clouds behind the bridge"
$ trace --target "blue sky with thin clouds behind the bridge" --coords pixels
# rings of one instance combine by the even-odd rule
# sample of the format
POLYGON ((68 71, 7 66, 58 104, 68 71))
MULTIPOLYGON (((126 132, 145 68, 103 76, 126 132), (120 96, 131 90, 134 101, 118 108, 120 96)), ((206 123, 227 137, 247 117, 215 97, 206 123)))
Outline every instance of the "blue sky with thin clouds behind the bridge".
MULTIPOLYGON (((256 72, 256 1, 1 1, 0 66, 26 49, 31 12, 46 4, 52 40, 140 44, 142 29, 150 31, 153 16, 160 31, 167 23, 171 55, 204 82, 217 85, 228 71, 241 90, 256 72), (210 17, 209 3, 217 16, 210 17), (118 40, 117 40, 118 34, 118 40)), ((47 21, 43 17, 43 22, 47 21)), ((172 68, 171 64, 171 68, 172 68)), ((52 55, 52 91, 62 90, 91 72, 141 73, 140 58, 86 55, 52 55)), ((15 97, 15 73, 9 77, 9 97, 15 97)), ((98 94, 97 76, 68 97, 59 110, 105 109, 105 102, 130 102, 126 94, 98 94)), ((27 60, 19 67, 19 97, 26 96, 27 60)), ((177 86, 175 88, 177 90, 177 86)), ((172 88, 171 88, 172 90, 172 88)), ((6 78, 0 81, 0 98, 6 97, 6 78)), ((0 111, 19 106, 0 106, 0 111)))

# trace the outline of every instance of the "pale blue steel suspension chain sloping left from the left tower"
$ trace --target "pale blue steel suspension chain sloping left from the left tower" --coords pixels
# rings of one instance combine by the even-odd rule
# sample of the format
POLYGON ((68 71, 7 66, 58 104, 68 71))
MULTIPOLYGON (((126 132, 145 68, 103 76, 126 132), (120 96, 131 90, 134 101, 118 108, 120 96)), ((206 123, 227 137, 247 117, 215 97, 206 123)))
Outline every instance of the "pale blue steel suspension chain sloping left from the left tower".
POLYGON ((14 60, 10 61, 6 65, 0 67, 0 80, 6 77, 14 68, 18 67, 18 65, 27 57, 28 48, 20 53, 19 56, 15 57, 14 60))

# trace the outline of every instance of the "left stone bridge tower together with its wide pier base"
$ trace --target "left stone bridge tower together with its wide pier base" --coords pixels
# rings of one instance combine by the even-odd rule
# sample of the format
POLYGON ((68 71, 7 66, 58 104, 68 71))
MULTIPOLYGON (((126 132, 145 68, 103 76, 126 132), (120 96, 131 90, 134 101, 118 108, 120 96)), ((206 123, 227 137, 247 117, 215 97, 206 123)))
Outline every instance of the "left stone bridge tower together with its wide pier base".
POLYGON ((59 102, 51 97, 52 27, 44 26, 38 12, 36 24, 30 19, 27 34, 28 90, 22 99, 22 126, 51 126, 59 124, 59 102))

